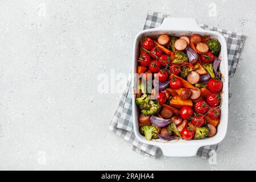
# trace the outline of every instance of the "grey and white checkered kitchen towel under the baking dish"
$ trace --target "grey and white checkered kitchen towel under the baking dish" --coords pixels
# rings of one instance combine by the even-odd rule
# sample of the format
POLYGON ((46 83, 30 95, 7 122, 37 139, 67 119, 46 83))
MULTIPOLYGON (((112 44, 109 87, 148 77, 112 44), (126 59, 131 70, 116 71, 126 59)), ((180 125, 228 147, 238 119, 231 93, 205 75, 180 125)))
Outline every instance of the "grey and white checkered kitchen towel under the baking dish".
MULTIPOLYGON (((160 24, 163 22, 163 19, 166 17, 168 17, 168 15, 148 11, 144 29, 160 26, 160 24)), ((220 34, 222 34, 226 39, 226 43, 228 46, 229 77, 233 77, 234 73, 236 72, 236 67, 238 64, 238 60, 240 59, 246 36, 238 34, 236 32, 222 30, 220 28, 209 27, 205 24, 199 25, 205 30, 220 32, 220 34)), ((110 122, 109 129, 114 131, 114 133, 121 136, 123 139, 129 141, 130 143, 133 143, 134 151, 155 158, 156 156, 159 156, 161 154, 160 149, 156 146, 151 146, 139 142, 134 135, 131 98, 131 82, 129 81, 127 84, 127 89, 125 90, 125 92, 123 92, 121 100, 119 101, 117 110, 114 114, 114 118, 110 122)), ((197 151, 197 156, 207 159, 209 158, 209 152, 212 150, 217 150, 217 147, 217 144, 201 147, 197 151)))

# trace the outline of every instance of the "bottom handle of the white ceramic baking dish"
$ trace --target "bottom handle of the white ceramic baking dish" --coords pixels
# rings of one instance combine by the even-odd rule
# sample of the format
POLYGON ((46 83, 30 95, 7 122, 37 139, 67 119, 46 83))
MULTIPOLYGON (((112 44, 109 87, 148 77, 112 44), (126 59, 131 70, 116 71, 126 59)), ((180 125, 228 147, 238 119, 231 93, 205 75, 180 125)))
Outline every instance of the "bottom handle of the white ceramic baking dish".
POLYGON ((195 156, 197 150, 201 147, 200 145, 193 146, 172 146, 172 145, 160 145, 159 146, 164 156, 167 157, 184 157, 184 156, 195 156))

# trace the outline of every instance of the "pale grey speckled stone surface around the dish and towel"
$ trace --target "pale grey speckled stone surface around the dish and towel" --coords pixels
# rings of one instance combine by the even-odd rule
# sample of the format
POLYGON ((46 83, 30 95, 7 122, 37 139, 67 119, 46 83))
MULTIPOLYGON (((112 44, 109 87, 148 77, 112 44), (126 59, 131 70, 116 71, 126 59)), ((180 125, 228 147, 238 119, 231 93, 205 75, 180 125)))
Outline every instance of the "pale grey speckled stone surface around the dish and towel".
POLYGON ((255 1, 0 1, 0 169, 256 169, 255 1), (248 35, 217 164, 151 159, 108 130, 147 10, 248 35))

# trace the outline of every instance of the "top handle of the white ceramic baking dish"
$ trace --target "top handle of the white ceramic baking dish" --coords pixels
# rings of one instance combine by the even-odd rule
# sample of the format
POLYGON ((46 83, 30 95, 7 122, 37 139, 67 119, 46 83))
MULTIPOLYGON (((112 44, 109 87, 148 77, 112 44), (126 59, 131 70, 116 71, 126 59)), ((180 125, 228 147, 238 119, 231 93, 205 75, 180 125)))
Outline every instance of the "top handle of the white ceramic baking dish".
POLYGON ((158 27, 160 30, 172 31, 205 31, 199 26, 195 18, 164 18, 158 27))

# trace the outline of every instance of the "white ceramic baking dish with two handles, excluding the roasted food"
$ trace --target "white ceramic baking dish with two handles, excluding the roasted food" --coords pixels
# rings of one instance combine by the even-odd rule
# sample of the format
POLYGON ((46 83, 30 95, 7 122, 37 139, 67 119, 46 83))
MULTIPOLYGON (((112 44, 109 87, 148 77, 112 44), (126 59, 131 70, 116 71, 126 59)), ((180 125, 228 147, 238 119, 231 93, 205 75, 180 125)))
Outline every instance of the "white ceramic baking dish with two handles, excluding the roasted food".
MULTIPOLYGON (((151 144, 161 148, 164 156, 195 156, 197 150, 202 146, 208 146, 212 144, 217 144, 221 142, 225 135, 228 127, 228 53, 226 48, 226 41, 224 37, 218 32, 207 31, 199 27, 196 22, 196 19, 193 18, 165 18, 162 25, 157 28, 152 28, 148 30, 143 30, 139 32, 134 40, 134 49, 133 49, 133 73, 137 71, 137 60, 139 56, 139 44, 142 38, 142 35, 156 37, 161 34, 171 34, 176 36, 183 35, 209 35, 211 38, 217 38, 221 43, 221 52, 220 52, 220 71, 224 77, 223 82, 223 94, 222 94, 222 106, 221 106, 221 119, 220 124, 217 127, 217 133, 214 137, 209 137, 201 140, 172 140, 164 141, 162 139, 157 140, 146 140, 141 133, 139 133, 138 126, 138 109, 135 104, 135 94, 133 94, 133 126, 134 133, 137 139, 143 143, 151 144)), ((133 74, 132 85, 135 88, 135 76, 133 74)), ((134 90, 134 89, 133 89, 134 90)))

